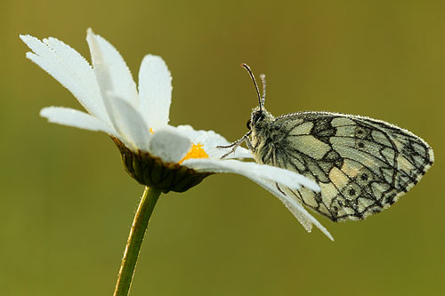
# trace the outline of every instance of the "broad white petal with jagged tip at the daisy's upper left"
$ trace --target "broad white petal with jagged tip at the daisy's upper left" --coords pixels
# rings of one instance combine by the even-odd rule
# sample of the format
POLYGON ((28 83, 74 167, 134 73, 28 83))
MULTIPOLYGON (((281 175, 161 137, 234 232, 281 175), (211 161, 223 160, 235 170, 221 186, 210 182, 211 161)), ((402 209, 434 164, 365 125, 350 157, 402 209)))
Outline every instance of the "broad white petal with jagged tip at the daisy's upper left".
POLYGON ((44 43, 34 36, 20 38, 34 52, 27 52, 29 60, 66 87, 89 113, 108 121, 93 68, 84 57, 55 38, 44 39, 44 43))

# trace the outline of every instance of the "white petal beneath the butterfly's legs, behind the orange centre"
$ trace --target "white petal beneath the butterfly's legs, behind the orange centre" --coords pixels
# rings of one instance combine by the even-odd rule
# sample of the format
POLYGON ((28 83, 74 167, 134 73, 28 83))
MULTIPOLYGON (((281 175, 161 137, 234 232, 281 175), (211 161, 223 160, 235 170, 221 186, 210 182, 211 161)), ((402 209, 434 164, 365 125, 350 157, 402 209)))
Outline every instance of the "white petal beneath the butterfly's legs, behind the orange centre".
MULTIPOLYGON (((176 129, 183 135, 187 136, 193 144, 201 143, 204 150, 210 158, 221 158, 230 149, 216 148, 217 146, 229 145, 229 141, 222 135, 214 131, 195 131, 190 125, 179 125, 176 129)), ((252 154, 246 148, 239 147, 234 153, 227 156, 230 158, 253 158, 252 154)))

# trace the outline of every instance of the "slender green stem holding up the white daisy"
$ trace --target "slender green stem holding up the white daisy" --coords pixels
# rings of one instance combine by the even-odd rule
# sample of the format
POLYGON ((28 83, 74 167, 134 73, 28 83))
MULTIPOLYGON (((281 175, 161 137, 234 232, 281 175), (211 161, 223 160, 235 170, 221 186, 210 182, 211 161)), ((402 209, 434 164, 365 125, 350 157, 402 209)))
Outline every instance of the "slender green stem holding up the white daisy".
POLYGON ((136 267, 136 261, 138 260, 139 252, 141 250, 143 236, 149 225, 151 212, 153 212, 160 194, 160 190, 156 188, 145 187, 143 191, 141 202, 138 206, 136 215, 134 216, 130 235, 126 242, 124 258, 122 259, 119 275, 117 276, 114 296, 127 296, 130 291, 134 276, 134 268, 136 267))

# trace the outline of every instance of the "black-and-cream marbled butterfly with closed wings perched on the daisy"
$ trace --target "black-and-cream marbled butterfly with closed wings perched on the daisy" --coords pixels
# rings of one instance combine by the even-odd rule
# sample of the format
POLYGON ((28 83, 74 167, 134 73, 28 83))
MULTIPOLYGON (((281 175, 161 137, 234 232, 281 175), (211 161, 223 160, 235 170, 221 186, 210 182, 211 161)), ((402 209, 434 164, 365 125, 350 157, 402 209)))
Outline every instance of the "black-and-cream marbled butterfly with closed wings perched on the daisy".
POLYGON ((259 106, 247 121, 248 132, 229 146, 230 155, 243 142, 255 162, 298 172, 321 190, 279 191, 328 217, 363 220, 394 204, 433 164, 433 149, 412 132, 366 116, 331 112, 297 112, 274 117, 264 108, 255 76, 259 106))

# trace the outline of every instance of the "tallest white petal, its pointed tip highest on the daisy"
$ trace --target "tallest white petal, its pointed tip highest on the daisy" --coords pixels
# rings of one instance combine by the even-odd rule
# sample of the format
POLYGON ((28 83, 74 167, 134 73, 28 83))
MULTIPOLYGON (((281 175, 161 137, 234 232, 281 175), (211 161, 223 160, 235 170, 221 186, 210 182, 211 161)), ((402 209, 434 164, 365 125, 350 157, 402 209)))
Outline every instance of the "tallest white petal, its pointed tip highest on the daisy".
POLYGON ((138 107, 136 84, 120 53, 107 40, 95 35, 91 28, 87 30, 86 41, 90 47, 93 68, 102 97, 107 92, 113 92, 118 97, 128 100, 134 107, 138 107))

